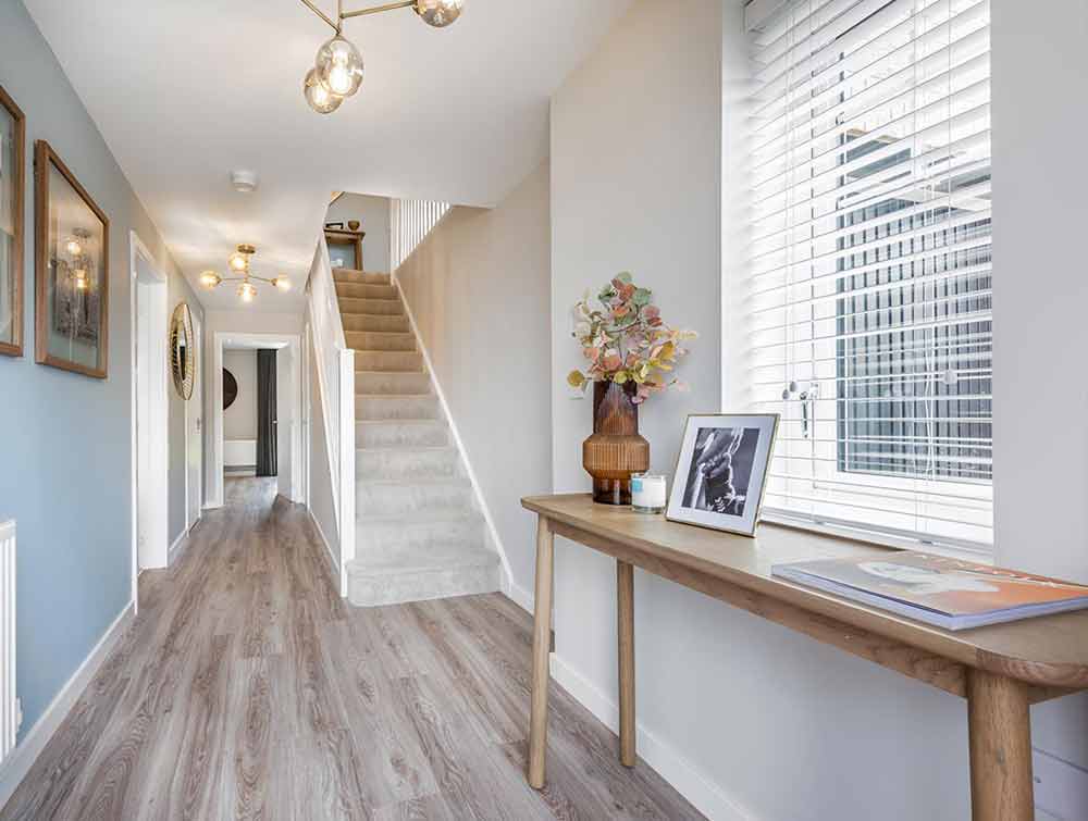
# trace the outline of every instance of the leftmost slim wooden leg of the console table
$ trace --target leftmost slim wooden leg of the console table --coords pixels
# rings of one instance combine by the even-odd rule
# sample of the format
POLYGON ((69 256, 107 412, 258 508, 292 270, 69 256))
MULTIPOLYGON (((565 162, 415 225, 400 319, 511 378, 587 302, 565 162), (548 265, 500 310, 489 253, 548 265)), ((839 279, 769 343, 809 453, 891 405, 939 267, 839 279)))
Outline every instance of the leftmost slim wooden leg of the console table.
POLYGON ((529 785, 544 788, 547 751, 548 655, 552 646, 552 588, 555 538, 545 517, 536 520, 536 594, 533 604, 533 693, 529 718, 529 785))

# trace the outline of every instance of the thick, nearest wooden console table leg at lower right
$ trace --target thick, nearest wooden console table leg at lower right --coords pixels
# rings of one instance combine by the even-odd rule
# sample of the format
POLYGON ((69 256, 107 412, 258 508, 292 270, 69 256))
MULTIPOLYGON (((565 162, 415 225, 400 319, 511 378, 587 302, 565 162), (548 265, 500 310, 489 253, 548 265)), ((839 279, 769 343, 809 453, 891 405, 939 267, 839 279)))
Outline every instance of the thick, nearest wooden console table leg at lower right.
POLYGON ((972 821, 1031 821, 1031 718, 1023 682, 982 670, 967 679, 972 821))

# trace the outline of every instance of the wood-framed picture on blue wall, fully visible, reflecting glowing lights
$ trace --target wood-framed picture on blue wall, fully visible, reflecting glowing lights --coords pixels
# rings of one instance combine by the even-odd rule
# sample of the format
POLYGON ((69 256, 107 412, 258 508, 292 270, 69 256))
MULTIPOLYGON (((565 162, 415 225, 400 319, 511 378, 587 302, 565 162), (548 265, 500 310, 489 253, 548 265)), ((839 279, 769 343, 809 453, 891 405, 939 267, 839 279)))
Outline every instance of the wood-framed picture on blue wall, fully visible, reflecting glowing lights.
POLYGON ((109 375, 110 221, 46 140, 34 145, 35 361, 109 375))

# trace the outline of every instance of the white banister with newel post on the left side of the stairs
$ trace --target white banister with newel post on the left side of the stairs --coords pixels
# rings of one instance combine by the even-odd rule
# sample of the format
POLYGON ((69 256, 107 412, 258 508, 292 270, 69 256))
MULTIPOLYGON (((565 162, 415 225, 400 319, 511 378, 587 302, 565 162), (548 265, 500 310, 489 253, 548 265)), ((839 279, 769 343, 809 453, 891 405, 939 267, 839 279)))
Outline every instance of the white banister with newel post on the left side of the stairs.
MULTIPOLYGON (((355 558, 355 351, 347 347, 324 235, 307 281, 307 316, 313 332, 314 373, 321 395, 325 458, 336 517, 341 595, 347 595, 347 563, 355 558)), ((311 453, 311 459, 314 457, 311 453)))

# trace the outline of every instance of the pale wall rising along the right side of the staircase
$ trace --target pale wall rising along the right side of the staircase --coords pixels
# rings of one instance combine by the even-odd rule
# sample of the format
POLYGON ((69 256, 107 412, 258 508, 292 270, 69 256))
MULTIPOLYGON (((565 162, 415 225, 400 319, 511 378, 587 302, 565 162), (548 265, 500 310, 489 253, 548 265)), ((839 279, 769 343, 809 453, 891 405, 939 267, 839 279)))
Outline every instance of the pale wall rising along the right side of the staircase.
POLYGON ((552 488, 548 166, 494 210, 454 208, 397 271, 519 584, 522 496, 552 488), (497 424, 497 422, 499 422, 497 424))

